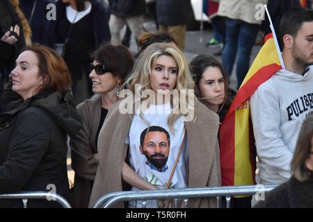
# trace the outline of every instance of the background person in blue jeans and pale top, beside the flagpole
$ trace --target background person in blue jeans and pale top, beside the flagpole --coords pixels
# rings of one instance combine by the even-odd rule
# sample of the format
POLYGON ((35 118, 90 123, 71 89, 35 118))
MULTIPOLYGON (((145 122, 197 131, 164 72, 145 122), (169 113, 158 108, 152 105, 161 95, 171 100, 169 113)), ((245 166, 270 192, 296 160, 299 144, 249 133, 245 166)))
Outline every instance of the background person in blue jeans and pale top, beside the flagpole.
POLYGON ((237 89, 248 73, 252 47, 262 22, 255 16, 258 3, 266 4, 267 0, 220 0, 218 7, 218 15, 225 17, 226 24, 222 65, 231 76, 236 61, 237 89))

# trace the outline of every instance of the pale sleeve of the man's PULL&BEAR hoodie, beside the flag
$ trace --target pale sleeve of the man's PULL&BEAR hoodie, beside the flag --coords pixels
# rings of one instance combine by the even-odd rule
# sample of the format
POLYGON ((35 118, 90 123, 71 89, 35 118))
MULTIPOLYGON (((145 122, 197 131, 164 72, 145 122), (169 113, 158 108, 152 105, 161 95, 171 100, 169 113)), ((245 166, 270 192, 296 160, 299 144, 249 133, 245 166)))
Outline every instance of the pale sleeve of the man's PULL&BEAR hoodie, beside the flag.
POLYGON ((290 178, 293 154, 282 140, 280 97, 273 89, 261 85, 251 96, 250 107, 257 155, 264 165, 283 178, 290 178))

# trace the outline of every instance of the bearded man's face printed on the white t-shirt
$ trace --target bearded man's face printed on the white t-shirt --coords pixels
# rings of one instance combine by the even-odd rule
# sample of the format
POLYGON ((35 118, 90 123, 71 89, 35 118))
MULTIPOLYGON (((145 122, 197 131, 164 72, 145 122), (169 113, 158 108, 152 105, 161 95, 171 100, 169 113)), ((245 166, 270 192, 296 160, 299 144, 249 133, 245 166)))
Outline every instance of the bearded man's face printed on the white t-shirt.
POLYGON ((147 161, 161 170, 166 166, 170 146, 166 134, 160 131, 150 131, 145 135, 143 146, 140 146, 141 154, 147 157, 147 161))

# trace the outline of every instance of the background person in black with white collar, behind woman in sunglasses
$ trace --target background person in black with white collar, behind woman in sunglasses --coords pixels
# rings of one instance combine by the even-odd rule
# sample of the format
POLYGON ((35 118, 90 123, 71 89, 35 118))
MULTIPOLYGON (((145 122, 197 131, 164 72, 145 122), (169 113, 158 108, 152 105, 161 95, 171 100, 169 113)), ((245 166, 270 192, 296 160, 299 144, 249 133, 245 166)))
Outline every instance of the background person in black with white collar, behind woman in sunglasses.
POLYGON ((50 44, 64 43, 64 59, 72 74, 72 89, 77 104, 93 94, 88 80, 90 53, 111 34, 106 9, 97 0, 59 0, 50 44), (66 43, 65 43, 66 41, 66 43))

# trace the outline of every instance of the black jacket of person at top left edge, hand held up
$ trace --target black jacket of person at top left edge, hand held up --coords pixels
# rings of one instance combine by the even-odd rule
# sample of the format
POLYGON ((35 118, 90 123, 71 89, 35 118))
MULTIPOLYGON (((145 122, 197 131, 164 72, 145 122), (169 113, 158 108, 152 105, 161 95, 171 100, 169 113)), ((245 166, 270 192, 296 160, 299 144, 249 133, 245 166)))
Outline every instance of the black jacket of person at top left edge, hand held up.
MULTIPOLYGON (((11 26, 19 25, 19 39, 15 44, 8 44, 0 40, 0 72, 8 74, 11 71, 15 59, 25 46, 24 33, 21 19, 15 12, 10 0, 0 1, 0 39, 10 30, 11 26)), ((3 76, 2 76, 3 78, 3 76)), ((0 95, 3 91, 2 80, 0 80, 0 95)))

